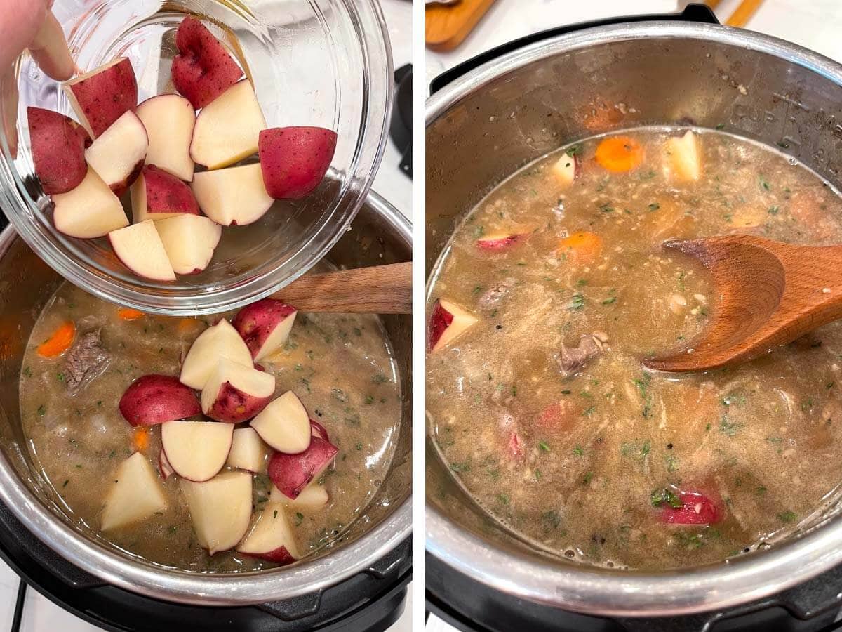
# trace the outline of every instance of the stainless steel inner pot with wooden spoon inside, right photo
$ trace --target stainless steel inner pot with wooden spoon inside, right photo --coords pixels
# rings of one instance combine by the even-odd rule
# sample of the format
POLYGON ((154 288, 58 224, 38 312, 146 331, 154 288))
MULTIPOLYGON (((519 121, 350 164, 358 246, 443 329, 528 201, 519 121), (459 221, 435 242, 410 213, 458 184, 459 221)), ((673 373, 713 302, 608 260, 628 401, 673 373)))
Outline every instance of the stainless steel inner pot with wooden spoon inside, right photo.
MULTIPOLYGON (((782 40, 718 25, 642 22, 526 46, 427 103, 426 265, 502 179, 567 142, 692 122, 770 146, 842 185, 842 67, 782 40)), ((796 537, 731 562, 663 573, 597 569, 531 548, 455 484, 426 443, 426 546, 476 581, 584 613, 667 616, 746 603, 842 562, 833 507, 796 537)))

